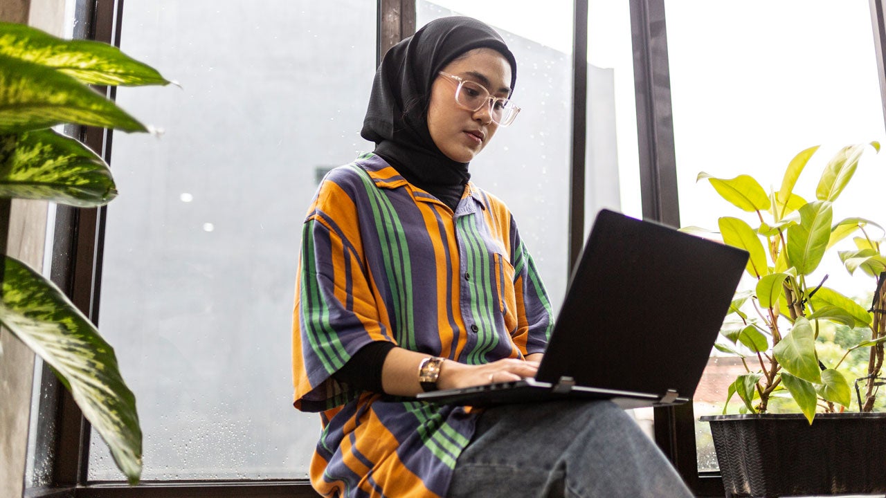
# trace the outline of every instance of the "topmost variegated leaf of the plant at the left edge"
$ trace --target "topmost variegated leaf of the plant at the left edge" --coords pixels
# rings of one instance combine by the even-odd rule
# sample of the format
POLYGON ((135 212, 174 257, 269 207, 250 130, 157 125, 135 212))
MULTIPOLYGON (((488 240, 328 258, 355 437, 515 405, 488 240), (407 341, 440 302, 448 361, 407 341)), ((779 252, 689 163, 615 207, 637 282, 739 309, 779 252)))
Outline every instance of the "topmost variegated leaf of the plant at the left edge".
POLYGON ((166 85, 156 69, 117 47, 89 40, 62 40, 21 24, 0 22, 0 54, 50 66, 95 85, 166 85))

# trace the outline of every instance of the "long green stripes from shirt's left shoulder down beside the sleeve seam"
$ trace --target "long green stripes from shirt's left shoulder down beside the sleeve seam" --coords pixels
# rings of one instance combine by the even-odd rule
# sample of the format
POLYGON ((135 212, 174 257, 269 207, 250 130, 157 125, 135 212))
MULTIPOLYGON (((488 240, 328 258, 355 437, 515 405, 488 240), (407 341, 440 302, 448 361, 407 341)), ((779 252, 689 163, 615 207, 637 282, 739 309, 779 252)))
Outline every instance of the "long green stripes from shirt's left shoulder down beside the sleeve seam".
POLYGON ((412 262, 409 259, 406 236, 400 219, 393 209, 391 201, 379 191, 369 174, 363 168, 351 164, 360 175, 363 187, 369 198, 376 232, 381 241, 382 260, 385 262, 385 276, 391 286, 393 298, 393 314, 397 319, 395 334, 400 346, 416 349, 415 309, 413 307, 412 262), (387 242, 386 242, 387 241, 387 242), (398 243, 394 251, 393 242, 398 243))

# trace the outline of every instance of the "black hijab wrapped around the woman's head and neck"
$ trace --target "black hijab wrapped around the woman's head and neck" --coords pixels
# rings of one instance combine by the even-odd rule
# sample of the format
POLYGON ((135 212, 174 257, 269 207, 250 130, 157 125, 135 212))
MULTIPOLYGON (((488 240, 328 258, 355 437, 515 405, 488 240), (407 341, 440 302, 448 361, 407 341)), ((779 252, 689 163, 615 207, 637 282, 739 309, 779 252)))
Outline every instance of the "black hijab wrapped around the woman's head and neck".
POLYGON ((468 163, 440 152, 428 130, 431 84, 447 64, 466 51, 489 48, 510 64, 510 90, 517 61, 492 27, 467 17, 436 19, 387 51, 378 66, 361 136, 409 183, 455 210, 470 179, 468 163))

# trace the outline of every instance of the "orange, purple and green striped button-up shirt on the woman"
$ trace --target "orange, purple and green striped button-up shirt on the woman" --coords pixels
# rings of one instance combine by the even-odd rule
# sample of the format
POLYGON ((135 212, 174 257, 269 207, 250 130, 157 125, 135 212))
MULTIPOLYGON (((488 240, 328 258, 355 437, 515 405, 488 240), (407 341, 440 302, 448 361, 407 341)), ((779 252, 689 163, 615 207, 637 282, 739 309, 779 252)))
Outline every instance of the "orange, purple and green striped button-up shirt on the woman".
POLYGON ((323 179, 298 278, 294 404, 321 412, 315 489, 445 496, 478 411, 358 392, 331 374, 378 340, 469 364, 544 352, 548 296, 507 207, 469 183, 453 213, 363 154, 323 179))

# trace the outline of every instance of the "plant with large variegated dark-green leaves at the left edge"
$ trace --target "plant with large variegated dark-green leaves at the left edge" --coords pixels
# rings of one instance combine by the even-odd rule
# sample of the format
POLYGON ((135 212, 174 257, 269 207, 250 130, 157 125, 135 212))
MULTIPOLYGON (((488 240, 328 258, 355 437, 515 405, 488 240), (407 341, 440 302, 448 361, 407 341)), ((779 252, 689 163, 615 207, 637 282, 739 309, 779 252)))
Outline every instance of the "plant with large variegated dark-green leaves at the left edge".
MULTIPOLYGON (((52 129, 63 123, 148 131, 88 85, 167 84, 117 48, 0 23, 0 197, 103 206, 117 195, 95 152, 52 129)), ((130 484, 142 471, 134 394, 116 356, 63 292, 3 256, 0 323, 47 362, 111 450, 130 484)))

